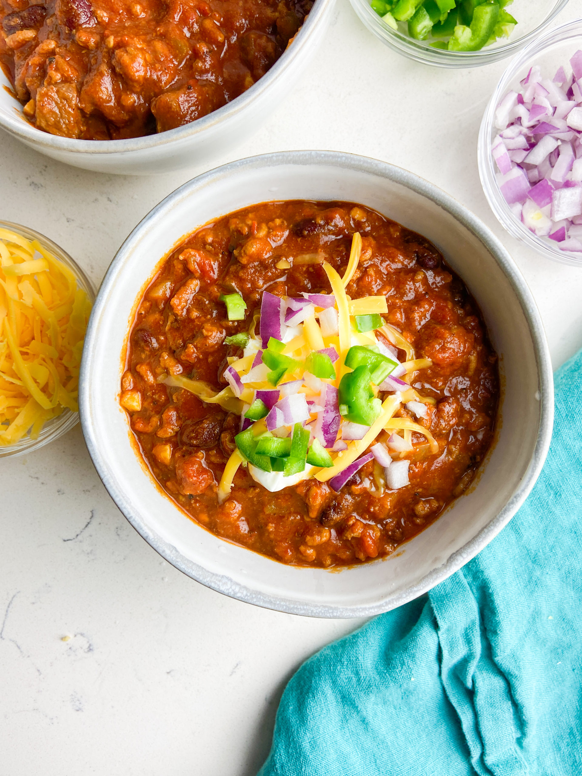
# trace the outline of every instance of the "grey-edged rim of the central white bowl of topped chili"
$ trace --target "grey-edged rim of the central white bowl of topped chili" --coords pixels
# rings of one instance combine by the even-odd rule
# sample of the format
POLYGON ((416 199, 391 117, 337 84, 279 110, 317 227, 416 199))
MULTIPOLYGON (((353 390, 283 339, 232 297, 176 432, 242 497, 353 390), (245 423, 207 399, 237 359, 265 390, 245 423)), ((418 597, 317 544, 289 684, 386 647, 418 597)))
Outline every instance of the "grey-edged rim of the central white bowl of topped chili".
MULTIPOLYGON (((252 203, 249 203, 249 205, 251 204, 252 203)), ((262 154, 260 156, 232 161, 227 165, 222 165, 221 167, 205 172, 202 175, 198 175, 196 178, 192 178, 192 180, 186 182, 174 192, 171 192, 171 194, 155 206, 150 213, 147 213, 147 216, 137 224, 137 227, 135 227, 126 238, 126 241, 123 242, 121 248, 113 258, 113 262, 109 265, 89 320, 87 334, 85 336, 81 374, 79 377, 79 414, 88 452, 92 457, 95 469, 97 470, 102 483, 105 485, 106 490, 109 492, 109 495, 113 498, 113 501, 125 515, 126 519, 133 525, 133 528, 135 528, 142 538, 165 558, 168 563, 171 563, 172 566, 175 566, 175 568, 182 571, 187 576, 192 577, 192 579, 206 585, 206 587, 210 587, 214 591, 227 594, 230 598, 237 598, 239 601, 245 601, 263 608, 275 609, 275 611, 283 611, 288 614, 307 615, 310 617, 371 617, 373 615, 381 614, 384 611, 397 608, 398 606, 407 603, 407 601, 412 601, 414 598, 426 593, 439 582, 442 582, 447 577, 451 576, 452 573, 455 573, 464 566, 465 563, 476 556, 491 539, 494 539, 501 531, 501 528, 504 528, 504 526, 507 525, 515 512, 518 511, 518 508, 521 507, 521 504, 523 504, 530 490, 532 490, 535 480, 537 480, 539 473, 542 470, 543 462, 546 459, 549 449, 553 428, 553 371, 542 319, 523 275, 521 275, 518 266, 497 237, 494 236, 479 218, 467 210, 466 207, 458 203, 456 199, 453 199, 449 194, 443 192, 442 189, 439 189, 434 184, 424 180, 424 178, 404 170, 403 168, 390 165, 385 161, 338 151, 279 151, 273 154, 262 154), (528 326, 532 335, 535 361, 539 376, 539 390, 541 393, 539 431, 528 469, 521 479, 519 486, 514 491, 511 500, 508 501, 508 504, 504 506, 499 514, 497 514, 497 517, 493 518, 484 528, 482 528, 473 539, 449 556, 446 563, 431 570, 417 584, 407 587, 405 591, 398 594, 384 596, 374 605, 347 607, 308 605, 301 601, 265 594, 262 591, 251 589, 250 587, 237 583, 235 580, 230 579, 230 577, 211 573, 198 563, 193 563, 191 560, 185 558, 185 556, 183 556, 182 553, 179 553, 174 546, 164 539, 161 539, 161 536, 153 532, 151 528, 148 528, 140 514, 133 510, 132 504, 123 493, 123 490, 116 487, 116 483, 107 473, 106 460, 102 456, 102 453, 95 442, 95 435, 89 421, 90 392, 86 373, 92 362, 92 353, 94 352, 93 341, 97 335, 95 321, 100 317, 103 300, 108 296, 109 290, 115 282, 117 265, 122 264, 126 254, 132 251, 133 244, 139 240, 141 231, 148 229, 152 221, 163 219, 165 213, 171 210, 176 199, 182 199, 182 197, 188 195, 189 192, 192 192, 193 190, 199 190, 206 185, 216 182, 220 178, 228 177, 233 171, 253 171, 258 168, 277 167, 280 165, 322 165, 337 167, 338 170, 345 169, 364 172, 369 175, 389 178, 391 181, 404 185, 408 189, 421 194, 421 196, 431 199, 443 210, 448 211, 453 217, 456 217, 456 219, 459 220, 459 223, 462 223, 464 227, 471 231, 490 251, 490 254, 497 262, 497 265, 501 267, 504 274, 508 277, 514 293, 521 304, 521 309, 523 310, 525 319, 528 321, 528 326)), ((249 550, 249 552, 252 551, 249 550)), ((297 568, 300 571, 303 570, 303 567, 297 568)), ((337 573, 337 570, 335 570, 335 572, 337 573)), ((341 573, 348 573, 348 569, 342 570, 341 573)))

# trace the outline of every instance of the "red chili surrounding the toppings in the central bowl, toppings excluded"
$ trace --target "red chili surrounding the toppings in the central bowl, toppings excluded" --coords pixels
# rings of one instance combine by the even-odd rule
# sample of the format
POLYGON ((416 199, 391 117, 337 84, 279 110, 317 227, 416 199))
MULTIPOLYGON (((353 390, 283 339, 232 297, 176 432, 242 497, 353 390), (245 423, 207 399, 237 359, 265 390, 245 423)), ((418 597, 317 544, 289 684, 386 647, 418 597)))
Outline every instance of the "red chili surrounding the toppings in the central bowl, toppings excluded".
MULTIPOLYGON (((492 439, 499 379, 480 310, 434 245, 362 205, 291 201, 230 213, 173 251, 137 308, 121 390, 122 404, 139 396, 130 424, 147 466, 192 520, 283 563, 329 567, 393 553, 466 490, 492 439), (227 356, 242 355, 224 338, 248 330, 263 290, 330 293, 324 268, 299 257, 319 254, 343 275, 355 231, 362 256, 346 292, 385 296, 387 322, 417 359, 431 359, 411 383, 436 400, 414 421, 430 429, 438 452, 414 433, 413 450, 400 454, 411 461, 410 484, 399 490, 374 486, 373 461, 338 493, 314 479, 270 493, 241 466, 230 497, 218 504, 240 417, 158 376, 182 373, 222 390, 227 356), (282 259, 292 266, 278 268, 282 259), (234 291, 247 304, 245 320, 227 320, 219 300, 234 291)), ((397 416, 413 417, 404 407, 397 416)), ((387 436, 382 431, 375 441, 387 436)))

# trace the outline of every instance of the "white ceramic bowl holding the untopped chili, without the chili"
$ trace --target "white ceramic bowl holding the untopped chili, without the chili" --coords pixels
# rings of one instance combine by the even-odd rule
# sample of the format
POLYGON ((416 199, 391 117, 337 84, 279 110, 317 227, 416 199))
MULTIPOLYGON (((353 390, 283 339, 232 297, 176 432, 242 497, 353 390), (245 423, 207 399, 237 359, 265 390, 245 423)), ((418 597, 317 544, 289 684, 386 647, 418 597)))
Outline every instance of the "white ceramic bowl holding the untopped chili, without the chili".
POLYGON ((151 175, 206 163, 241 144, 285 99, 315 54, 333 5, 334 0, 316 0, 293 42, 256 84, 208 116, 175 130, 127 140, 75 140, 51 135, 26 120, 2 69, 0 127, 34 151, 95 172, 151 175))

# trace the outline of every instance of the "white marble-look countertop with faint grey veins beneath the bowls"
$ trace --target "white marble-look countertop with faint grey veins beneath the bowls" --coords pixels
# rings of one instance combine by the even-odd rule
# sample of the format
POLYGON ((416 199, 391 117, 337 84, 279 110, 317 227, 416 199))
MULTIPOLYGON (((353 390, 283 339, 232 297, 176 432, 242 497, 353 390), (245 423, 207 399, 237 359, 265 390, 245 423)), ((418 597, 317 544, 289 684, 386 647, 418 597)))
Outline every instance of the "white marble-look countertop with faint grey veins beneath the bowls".
MULTIPOLYGON (((582 0, 571 0, 556 23, 577 16, 582 0)), ((408 61, 338 0, 285 106, 212 166, 322 148, 428 178, 507 246, 558 366, 582 345, 582 268, 548 262, 505 233, 477 173, 481 116, 507 64, 454 71, 408 61)), ((133 226, 201 171, 97 175, 0 133, 0 217, 47 234, 99 284, 133 226)), ((255 774, 288 678, 361 622, 265 611, 183 576, 109 499, 79 427, 32 455, 3 459, 0 471, 2 776, 255 774)))

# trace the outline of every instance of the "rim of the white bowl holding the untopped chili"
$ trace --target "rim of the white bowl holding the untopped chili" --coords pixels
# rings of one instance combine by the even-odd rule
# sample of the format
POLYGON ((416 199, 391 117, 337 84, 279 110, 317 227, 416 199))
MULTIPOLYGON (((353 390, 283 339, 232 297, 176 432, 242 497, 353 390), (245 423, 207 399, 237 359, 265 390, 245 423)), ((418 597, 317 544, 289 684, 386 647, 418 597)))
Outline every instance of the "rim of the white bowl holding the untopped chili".
POLYGON ((23 119, 23 116, 17 113, 20 103, 16 98, 12 98, 15 102, 15 115, 7 116, 5 113, 0 112, 0 127, 8 130, 21 140, 26 140, 28 143, 33 143, 43 148, 69 151, 74 154, 119 154, 122 152, 145 151, 165 146, 175 141, 185 140, 186 138, 212 133, 217 124, 230 120, 238 113, 241 113, 241 111, 247 109, 251 103, 257 102, 264 92, 270 88, 279 73, 286 70, 300 56, 303 44, 307 43, 307 40, 317 31, 317 24, 327 12, 327 7, 333 2, 334 0, 316 0, 314 2, 313 8, 307 15, 299 32, 296 33, 293 43, 283 51, 272 68, 262 78, 259 78, 251 88, 232 100, 232 102, 227 102, 226 105, 209 113, 207 116, 203 116, 184 126, 178 126, 175 130, 167 130, 166 132, 145 135, 144 137, 128 137, 125 140, 76 140, 74 137, 60 137, 43 132, 43 130, 37 129, 36 126, 23 119))

